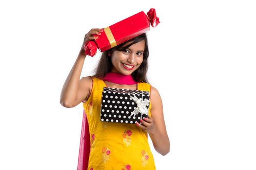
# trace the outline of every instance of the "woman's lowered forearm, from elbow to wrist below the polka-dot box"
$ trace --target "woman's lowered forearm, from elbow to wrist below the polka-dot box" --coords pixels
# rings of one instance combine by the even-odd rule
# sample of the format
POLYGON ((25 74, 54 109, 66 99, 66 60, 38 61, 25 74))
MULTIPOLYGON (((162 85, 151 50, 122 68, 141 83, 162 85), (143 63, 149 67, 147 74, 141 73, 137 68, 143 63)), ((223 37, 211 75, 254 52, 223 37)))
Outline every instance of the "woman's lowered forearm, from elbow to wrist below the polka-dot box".
POLYGON ((167 135, 162 135, 156 128, 149 133, 149 136, 153 142, 155 150, 166 155, 170 152, 170 140, 167 135))

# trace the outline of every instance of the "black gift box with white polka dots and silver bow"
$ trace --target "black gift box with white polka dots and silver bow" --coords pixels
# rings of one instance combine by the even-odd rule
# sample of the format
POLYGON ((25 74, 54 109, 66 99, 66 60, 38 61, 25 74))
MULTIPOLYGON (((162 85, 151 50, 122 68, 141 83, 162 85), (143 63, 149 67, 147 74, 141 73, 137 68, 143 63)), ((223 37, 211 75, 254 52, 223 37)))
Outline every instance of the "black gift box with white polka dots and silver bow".
POLYGON ((135 124, 148 115, 149 91, 103 88, 101 121, 135 124))

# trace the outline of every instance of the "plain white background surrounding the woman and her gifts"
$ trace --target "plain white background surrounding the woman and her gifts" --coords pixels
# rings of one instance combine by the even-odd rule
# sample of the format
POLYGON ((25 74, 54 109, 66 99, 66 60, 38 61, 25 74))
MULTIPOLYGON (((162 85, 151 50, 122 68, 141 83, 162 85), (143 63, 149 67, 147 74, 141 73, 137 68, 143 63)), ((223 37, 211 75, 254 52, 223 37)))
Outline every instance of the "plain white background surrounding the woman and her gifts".
POLYGON ((253 0, 1 1, 1 170, 77 169, 83 106, 60 94, 84 36, 151 7, 148 77, 171 141, 162 156, 149 138, 157 170, 256 170, 253 0))

